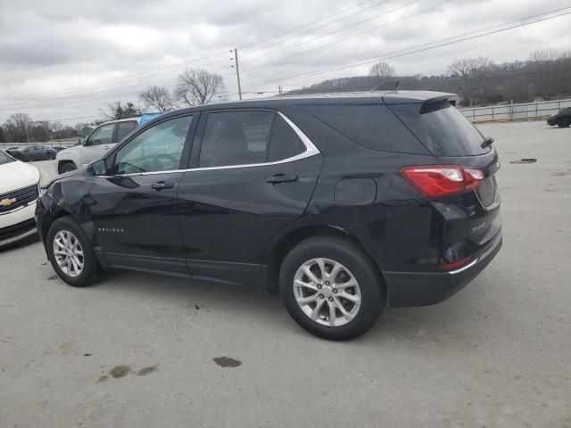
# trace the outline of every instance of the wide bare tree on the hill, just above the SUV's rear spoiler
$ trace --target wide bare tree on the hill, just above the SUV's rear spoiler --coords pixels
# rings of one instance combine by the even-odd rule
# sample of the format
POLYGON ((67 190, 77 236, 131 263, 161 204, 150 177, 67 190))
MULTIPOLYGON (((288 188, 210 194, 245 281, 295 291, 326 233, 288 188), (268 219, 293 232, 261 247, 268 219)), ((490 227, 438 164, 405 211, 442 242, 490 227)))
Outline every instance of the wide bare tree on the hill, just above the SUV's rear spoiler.
POLYGON ((460 95, 468 101, 470 107, 484 86, 484 78, 490 74, 492 69, 493 62, 482 56, 456 60, 448 66, 452 77, 460 78, 460 95))

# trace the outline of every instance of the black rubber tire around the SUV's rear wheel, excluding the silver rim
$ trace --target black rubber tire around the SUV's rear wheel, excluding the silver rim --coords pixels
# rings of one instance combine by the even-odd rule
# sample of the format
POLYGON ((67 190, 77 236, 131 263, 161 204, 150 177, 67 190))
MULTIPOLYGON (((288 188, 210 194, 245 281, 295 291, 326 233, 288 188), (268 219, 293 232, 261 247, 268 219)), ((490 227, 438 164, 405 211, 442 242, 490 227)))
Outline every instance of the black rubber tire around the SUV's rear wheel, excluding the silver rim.
POLYGON ((279 291, 285 308, 298 325, 316 336, 333 341, 346 341, 367 333, 377 323, 386 303, 385 283, 377 266, 358 244, 337 237, 309 238, 289 251, 279 271, 279 291), (294 294, 295 273, 308 260, 318 258, 341 263, 351 271, 359 284, 360 309, 345 325, 319 324, 310 319, 297 304, 294 294))

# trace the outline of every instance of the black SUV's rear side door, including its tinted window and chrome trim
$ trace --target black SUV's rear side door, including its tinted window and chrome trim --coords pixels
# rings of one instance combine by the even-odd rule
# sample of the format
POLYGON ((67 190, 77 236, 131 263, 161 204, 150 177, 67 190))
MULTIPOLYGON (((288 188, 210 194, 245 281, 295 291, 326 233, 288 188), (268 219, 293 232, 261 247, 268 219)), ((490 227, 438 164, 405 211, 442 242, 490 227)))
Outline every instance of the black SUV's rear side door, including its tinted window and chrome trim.
POLYGON ((178 193, 189 270, 258 285, 266 244, 302 215, 322 155, 276 111, 210 111, 190 162, 178 193))

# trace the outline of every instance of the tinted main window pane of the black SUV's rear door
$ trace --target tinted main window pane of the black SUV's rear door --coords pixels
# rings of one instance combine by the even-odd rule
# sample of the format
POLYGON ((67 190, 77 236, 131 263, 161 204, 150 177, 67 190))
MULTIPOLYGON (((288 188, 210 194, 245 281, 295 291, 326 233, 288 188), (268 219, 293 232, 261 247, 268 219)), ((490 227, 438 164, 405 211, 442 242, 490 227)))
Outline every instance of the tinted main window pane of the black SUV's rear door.
POLYGON ((269 111, 209 114, 199 166, 209 168, 265 162, 272 118, 273 113, 269 111))

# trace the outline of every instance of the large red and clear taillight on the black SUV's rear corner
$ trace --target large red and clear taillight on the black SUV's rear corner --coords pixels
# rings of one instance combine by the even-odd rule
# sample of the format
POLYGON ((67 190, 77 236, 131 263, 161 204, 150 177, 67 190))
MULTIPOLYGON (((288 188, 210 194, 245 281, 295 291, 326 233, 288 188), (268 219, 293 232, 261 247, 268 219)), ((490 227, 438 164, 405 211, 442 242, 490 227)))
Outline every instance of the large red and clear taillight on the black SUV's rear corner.
POLYGON ((476 167, 404 167, 399 174, 428 199, 468 192, 485 179, 484 170, 476 167))

